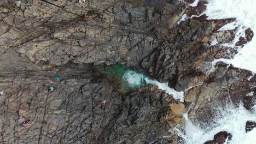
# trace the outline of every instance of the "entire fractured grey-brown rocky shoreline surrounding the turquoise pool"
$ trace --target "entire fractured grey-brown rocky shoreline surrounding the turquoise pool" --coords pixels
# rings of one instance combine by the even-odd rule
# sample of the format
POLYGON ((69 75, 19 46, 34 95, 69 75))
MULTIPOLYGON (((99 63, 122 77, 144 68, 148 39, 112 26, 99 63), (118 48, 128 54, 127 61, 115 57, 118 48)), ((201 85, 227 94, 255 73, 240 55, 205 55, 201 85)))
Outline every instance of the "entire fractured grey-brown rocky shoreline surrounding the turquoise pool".
MULTIPOLYGON (((219 49, 235 30, 217 31, 235 19, 202 15, 181 21, 184 14, 202 13, 205 2, 190 7, 191 0, 1 1, 0 142, 182 143, 174 128, 184 129, 184 113, 191 121, 211 123, 212 109, 226 99, 243 101, 252 111, 254 74, 212 65, 237 53, 219 49), (184 91, 184 103, 155 86, 121 93, 118 82, 95 69, 117 63, 184 91), (53 85, 57 89, 50 92, 53 85), (30 126, 19 127, 21 115, 30 117, 30 126)), ((248 28, 236 46, 253 35, 248 28)), ((218 135, 231 139, 226 132, 218 135)), ((220 142, 216 137, 208 143, 220 142)))

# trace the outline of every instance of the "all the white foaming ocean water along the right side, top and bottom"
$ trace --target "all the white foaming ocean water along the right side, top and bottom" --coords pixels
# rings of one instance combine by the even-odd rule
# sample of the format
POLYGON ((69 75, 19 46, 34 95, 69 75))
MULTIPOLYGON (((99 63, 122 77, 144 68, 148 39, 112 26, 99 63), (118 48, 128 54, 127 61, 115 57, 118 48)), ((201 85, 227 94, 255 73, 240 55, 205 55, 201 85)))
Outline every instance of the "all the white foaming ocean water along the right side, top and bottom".
MULTIPOLYGON (((199 1, 191 4, 195 7, 199 1)), ((219 29, 219 31, 237 29, 236 37, 231 43, 224 44, 226 46, 235 47, 235 43, 240 37, 245 37, 245 30, 251 28, 256 32, 256 1, 255 0, 208 0, 207 9, 203 13, 208 16, 207 19, 227 19, 236 18, 235 22, 228 23, 219 29)), ((212 45, 218 41, 213 41, 212 45)), ((220 45, 221 46, 221 45, 220 45)), ((221 47, 220 47, 221 49, 221 47)), ((222 61, 232 64, 234 67, 247 69, 255 73, 256 71, 256 38, 245 44, 244 47, 236 47, 238 53, 233 59, 215 59, 216 62, 222 61)), ((249 79, 249 78, 248 78, 249 79)), ((256 107, 256 106, 254 106, 256 107)), ((208 140, 213 140, 213 136, 220 131, 228 131, 232 134, 232 140, 229 144, 255 144, 256 129, 246 133, 245 126, 247 121, 256 121, 256 112, 247 111, 241 104, 235 107, 232 103, 227 103, 226 107, 216 107, 216 117, 211 124, 203 124, 191 122, 187 113, 184 115, 186 119, 185 131, 176 132, 184 139, 187 144, 201 144, 208 140)))

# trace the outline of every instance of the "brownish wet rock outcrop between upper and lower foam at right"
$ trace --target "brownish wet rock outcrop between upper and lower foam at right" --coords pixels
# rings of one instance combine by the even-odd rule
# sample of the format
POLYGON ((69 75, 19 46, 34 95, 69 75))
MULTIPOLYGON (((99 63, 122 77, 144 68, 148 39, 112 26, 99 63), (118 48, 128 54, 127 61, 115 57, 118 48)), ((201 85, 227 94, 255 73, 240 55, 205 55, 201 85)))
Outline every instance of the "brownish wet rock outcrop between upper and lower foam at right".
POLYGON ((188 114, 189 118, 197 119, 197 122, 212 123, 209 117, 214 117, 214 108, 225 107, 227 103, 240 105, 243 95, 252 91, 250 85, 254 82, 247 81, 249 76, 251 72, 247 70, 240 71, 227 64, 218 64, 214 73, 205 79, 206 83, 188 91, 188 96, 185 94, 185 101, 196 101, 188 114))

